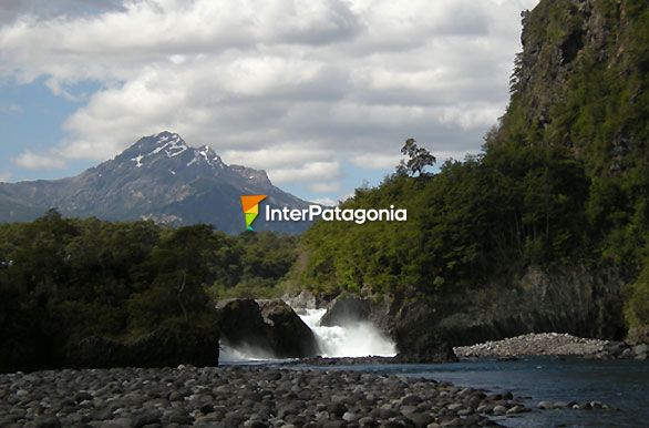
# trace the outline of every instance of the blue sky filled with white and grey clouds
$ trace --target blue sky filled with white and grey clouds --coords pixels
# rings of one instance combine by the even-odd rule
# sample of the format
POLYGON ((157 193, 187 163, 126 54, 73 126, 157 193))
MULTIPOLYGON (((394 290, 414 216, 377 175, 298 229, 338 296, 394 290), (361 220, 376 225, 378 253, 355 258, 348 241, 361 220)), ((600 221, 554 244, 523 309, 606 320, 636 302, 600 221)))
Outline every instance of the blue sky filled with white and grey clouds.
POLYGON ((2 0, 0 181, 177 132, 331 203, 409 137, 478 153, 538 0, 2 0))

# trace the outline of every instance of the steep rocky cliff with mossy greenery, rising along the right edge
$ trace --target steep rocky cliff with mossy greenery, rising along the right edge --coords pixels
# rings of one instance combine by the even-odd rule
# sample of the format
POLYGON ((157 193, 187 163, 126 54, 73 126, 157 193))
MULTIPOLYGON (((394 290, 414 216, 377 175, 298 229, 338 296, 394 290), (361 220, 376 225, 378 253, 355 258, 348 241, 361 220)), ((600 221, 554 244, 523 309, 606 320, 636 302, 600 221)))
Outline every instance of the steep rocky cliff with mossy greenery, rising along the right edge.
POLYGON ((649 269, 649 2, 542 0, 523 14, 522 42, 487 151, 558 146, 579 162, 589 245, 625 267, 630 338, 646 340, 649 281, 633 277, 649 269))

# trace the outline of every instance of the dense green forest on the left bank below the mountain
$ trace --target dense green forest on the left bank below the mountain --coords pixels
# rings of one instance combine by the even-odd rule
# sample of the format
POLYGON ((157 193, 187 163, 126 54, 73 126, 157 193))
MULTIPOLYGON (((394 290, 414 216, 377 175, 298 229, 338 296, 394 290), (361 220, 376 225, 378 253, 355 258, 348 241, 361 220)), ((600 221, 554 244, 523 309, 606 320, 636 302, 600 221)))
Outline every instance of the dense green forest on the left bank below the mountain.
POLYGON ((56 365, 90 336, 127 342, 164 326, 196 328, 231 294, 272 292, 296 258, 295 237, 229 236, 210 226, 69 220, 51 211, 0 225, 0 367, 56 365))

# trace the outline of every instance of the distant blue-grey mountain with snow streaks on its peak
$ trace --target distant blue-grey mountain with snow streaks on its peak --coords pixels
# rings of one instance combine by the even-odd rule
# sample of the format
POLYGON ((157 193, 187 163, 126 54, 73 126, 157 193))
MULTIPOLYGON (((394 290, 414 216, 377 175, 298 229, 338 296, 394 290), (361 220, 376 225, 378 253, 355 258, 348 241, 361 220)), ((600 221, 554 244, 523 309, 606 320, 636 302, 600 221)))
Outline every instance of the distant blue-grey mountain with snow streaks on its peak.
MULTIPOLYGON (((240 195, 268 195, 270 206, 308 203, 272 185, 265 171, 227 165, 209 146, 192 147, 175 133, 140 139, 115 159, 56 181, 0 183, 0 221, 30 221, 56 207, 65 216, 110 221, 207 223, 245 230, 240 195)), ((300 233, 308 223, 258 220, 259 231, 300 233)))

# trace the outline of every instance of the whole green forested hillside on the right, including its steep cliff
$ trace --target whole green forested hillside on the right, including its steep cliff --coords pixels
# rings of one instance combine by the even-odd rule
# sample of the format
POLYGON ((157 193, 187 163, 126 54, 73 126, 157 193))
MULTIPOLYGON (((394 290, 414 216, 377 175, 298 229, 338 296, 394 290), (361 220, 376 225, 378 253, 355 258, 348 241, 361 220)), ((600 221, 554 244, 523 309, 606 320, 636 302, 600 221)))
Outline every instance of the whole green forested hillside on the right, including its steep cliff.
POLYGON ((296 283, 439 302, 529 268, 614 269, 631 336, 648 338, 649 6, 543 0, 523 24, 483 152, 358 190, 344 207, 394 204, 408 223, 315 225, 296 283))

